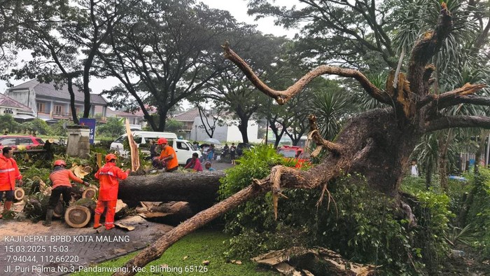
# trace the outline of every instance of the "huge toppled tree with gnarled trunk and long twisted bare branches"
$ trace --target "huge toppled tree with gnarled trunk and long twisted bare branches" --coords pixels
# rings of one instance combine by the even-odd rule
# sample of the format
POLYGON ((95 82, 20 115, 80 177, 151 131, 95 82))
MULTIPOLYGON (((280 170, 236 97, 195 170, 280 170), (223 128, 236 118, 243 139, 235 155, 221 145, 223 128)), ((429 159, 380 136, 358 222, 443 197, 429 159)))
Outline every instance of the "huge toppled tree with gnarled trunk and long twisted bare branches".
MULTIPOLYGON (((228 45, 223 46, 225 57, 244 71, 256 88, 276 99, 278 104, 285 104, 312 79, 323 74, 331 74, 356 79, 371 97, 390 105, 391 108, 367 111, 352 118, 339 132, 335 142, 320 137, 315 118, 311 116, 310 136, 318 145, 313 155, 318 154, 321 149, 330 153, 320 165, 308 171, 299 171, 283 166, 273 167, 271 174, 266 179, 255 180, 253 184, 230 198, 181 223, 160 237, 150 247, 141 251, 125 264, 127 271, 129 271, 127 275, 134 275, 135 272, 132 268, 144 267, 150 261, 160 257, 168 247, 181 237, 250 198, 266 191, 272 191, 274 209, 276 209, 277 199, 281 196, 282 188, 321 188, 325 193, 328 181, 337 179, 346 172, 363 174, 370 188, 394 198, 399 212, 405 213, 409 219, 412 218, 412 210, 409 205, 403 202, 399 188, 402 172, 407 166, 409 156, 421 135, 451 127, 490 128, 490 118, 488 117, 442 116, 440 112, 449 106, 463 103, 489 106, 490 101, 488 99, 474 95, 485 85, 467 83, 461 88, 439 95, 430 94, 430 87, 433 84, 431 74, 435 67, 429 62, 441 48, 444 39, 447 39, 451 30, 451 14, 443 3, 435 29, 423 34, 421 39, 414 44, 407 73, 399 73, 395 76, 395 73, 392 72, 386 82, 385 90, 381 90, 370 83, 360 71, 328 66, 317 67, 310 71, 287 90, 272 90, 255 76, 248 64, 228 45)), ((123 275, 123 273, 116 273, 116 275, 123 275)))

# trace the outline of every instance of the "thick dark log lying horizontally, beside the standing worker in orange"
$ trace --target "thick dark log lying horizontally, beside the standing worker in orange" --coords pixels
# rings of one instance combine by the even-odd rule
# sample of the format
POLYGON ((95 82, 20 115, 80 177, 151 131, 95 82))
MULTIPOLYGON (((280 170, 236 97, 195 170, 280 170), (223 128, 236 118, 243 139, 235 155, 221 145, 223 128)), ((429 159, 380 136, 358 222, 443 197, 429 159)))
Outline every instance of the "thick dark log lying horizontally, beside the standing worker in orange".
POLYGON ((204 209, 216 203, 219 179, 225 173, 162 173, 130 176, 120 181, 118 198, 136 201, 186 201, 193 208, 204 209))

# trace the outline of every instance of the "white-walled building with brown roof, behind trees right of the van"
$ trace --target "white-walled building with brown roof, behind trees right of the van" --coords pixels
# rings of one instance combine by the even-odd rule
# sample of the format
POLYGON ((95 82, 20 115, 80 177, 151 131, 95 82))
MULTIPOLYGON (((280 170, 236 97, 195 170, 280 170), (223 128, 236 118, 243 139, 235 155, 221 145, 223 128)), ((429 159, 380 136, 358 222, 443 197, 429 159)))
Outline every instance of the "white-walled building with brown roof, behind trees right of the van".
MULTIPOLYGON (((186 132, 188 132, 187 139, 203 141, 209 138, 209 135, 204 130, 204 125, 209 129, 209 125, 214 125, 214 118, 207 116, 209 125, 204 119, 204 125, 202 123, 199 110, 197 108, 190 109, 179 115, 174 116, 174 120, 184 123, 186 132)), ((213 138, 218 139, 221 142, 242 142, 241 132, 238 130, 238 121, 227 119, 224 123, 216 123, 216 129, 214 130, 213 138)), ((262 139, 258 139, 258 123, 255 120, 248 121, 247 127, 248 141, 251 143, 261 142, 262 139)))

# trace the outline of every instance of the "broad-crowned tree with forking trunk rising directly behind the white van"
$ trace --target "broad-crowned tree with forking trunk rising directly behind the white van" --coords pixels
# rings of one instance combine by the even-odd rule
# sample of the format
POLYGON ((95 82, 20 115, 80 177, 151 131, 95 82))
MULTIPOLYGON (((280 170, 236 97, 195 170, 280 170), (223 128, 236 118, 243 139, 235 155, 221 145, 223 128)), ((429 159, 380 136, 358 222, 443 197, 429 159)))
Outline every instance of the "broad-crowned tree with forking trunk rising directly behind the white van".
POLYGON ((165 130, 172 107, 221 71, 219 45, 235 24, 228 12, 194 1, 142 1, 113 27, 99 51, 101 74, 122 83, 104 94, 122 105, 136 102, 153 130, 165 130), (155 106, 158 121, 146 104, 155 106))

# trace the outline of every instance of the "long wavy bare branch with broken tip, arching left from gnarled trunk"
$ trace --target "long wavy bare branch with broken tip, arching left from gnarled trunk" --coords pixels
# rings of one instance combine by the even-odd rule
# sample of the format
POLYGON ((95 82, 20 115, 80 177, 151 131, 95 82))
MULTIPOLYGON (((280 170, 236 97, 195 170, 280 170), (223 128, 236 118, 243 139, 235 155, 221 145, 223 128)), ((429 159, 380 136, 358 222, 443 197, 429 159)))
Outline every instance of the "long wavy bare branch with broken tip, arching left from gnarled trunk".
POLYGON ((239 55, 230 49, 228 43, 225 43, 223 49, 225 50, 225 57, 235 63, 237 67, 244 72, 246 77, 253 83, 253 85, 255 85, 255 88, 258 88, 258 90, 263 92, 265 95, 276 99, 276 102, 281 105, 286 104, 291 97, 301 92, 301 90, 314 78, 324 74, 355 78, 371 97, 374 97, 374 99, 377 99, 379 102, 383 102, 384 104, 391 103, 391 98, 388 96, 388 94, 374 86, 362 73, 360 73, 360 71, 325 65, 316 67, 315 69, 309 71, 286 90, 274 90, 260 81, 260 78, 253 73, 251 67, 249 67, 248 64, 246 64, 246 62, 239 57, 239 55))

